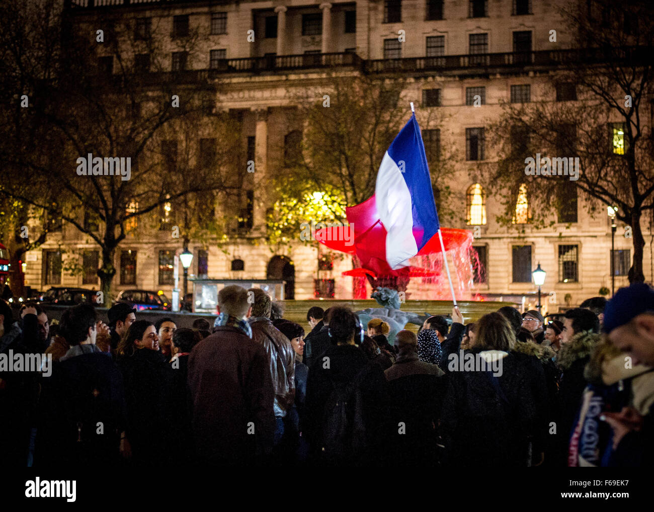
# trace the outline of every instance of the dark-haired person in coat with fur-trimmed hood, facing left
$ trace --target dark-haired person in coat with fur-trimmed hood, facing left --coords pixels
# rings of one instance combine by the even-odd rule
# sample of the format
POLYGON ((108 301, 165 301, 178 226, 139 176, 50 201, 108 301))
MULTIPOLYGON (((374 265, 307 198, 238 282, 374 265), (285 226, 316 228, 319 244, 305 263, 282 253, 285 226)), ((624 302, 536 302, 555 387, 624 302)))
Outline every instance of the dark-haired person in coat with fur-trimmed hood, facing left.
POLYGON ((566 465, 568 441, 581 395, 586 387, 583 369, 600 341, 600 322, 588 309, 568 309, 561 331, 561 348, 557 354, 559 378, 559 421, 557 422, 557 458, 566 465))

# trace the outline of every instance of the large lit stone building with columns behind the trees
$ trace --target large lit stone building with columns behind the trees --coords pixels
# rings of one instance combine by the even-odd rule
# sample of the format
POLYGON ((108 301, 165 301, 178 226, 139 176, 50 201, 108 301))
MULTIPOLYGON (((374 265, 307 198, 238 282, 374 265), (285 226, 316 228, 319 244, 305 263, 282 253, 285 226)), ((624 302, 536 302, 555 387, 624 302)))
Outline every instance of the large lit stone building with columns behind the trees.
MULTIPOLYGON (((423 136, 427 133, 432 143, 460 156, 450 177, 453 209, 459 214, 447 227, 473 231, 484 270, 473 272, 470 296, 532 307, 536 287, 531 272, 540 263, 547 271, 545 309, 555 311, 611 288, 612 266, 615 287, 627 284, 633 251, 629 230, 617 226, 611 253, 610 219, 602 212, 589 216, 583 205, 590 199, 582 196, 571 197, 566 212, 553 212, 549 228, 536 230, 527 221, 519 223, 521 230, 502 226, 496 222, 498 199, 486 193, 483 177, 472 178, 480 163, 494 158, 484 128, 500 115, 501 101, 563 99, 559 94, 564 93, 551 85, 551 74, 570 39, 555 7, 556 0, 67 0, 65 13, 77 29, 111 20, 162 36, 170 50, 166 71, 220 75, 216 103, 242 120, 258 177, 274 175, 283 165, 284 146, 298 130, 287 115, 298 90, 307 84, 319 87, 327 72, 405 73, 409 80, 403 97, 420 109, 438 110, 445 120, 438 128, 422 126, 423 136), (187 55, 175 48, 175 35, 190 31, 197 31, 201 46, 187 55), (477 96, 481 107, 474 105, 477 96)), ((266 211, 275 201, 270 190, 245 189, 239 201, 239 212, 231 215, 241 220, 227 228, 233 243, 190 241, 192 277, 284 279, 289 299, 354 296, 354 278, 341 275, 352 268, 349 258, 321 266, 317 244, 298 241, 279 253, 267 247, 266 211)), ((651 215, 644 216, 649 282, 652 222, 651 215)), ((136 229, 116 254, 116 294, 145 288, 170 296, 172 256, 180 248, 181 241, 167 232, 136 229)), ((63 226, 26 260, 26 284, 33 288, 99 284, 93 273, 97 246, 73 226, 63 226), (80 264, 88 270, 75 275, 63 271, 61 247, 85 251, 80 264)), ((432 298, 432 288, 419 281, 409 283, 409 297, 432 298)))

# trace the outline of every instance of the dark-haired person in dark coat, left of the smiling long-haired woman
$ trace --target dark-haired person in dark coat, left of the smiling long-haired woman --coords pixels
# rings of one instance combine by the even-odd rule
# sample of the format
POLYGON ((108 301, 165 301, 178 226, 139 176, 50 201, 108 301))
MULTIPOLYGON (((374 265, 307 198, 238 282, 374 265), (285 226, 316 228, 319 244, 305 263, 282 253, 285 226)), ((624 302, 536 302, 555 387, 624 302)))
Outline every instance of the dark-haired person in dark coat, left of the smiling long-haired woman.
POLYGON ((97 324, 91 305, 61 315, 60 332, 70 349, 41 380, 35 466, 106 469, 120 462, 126 435, 122 376, 95 344, 97 324))

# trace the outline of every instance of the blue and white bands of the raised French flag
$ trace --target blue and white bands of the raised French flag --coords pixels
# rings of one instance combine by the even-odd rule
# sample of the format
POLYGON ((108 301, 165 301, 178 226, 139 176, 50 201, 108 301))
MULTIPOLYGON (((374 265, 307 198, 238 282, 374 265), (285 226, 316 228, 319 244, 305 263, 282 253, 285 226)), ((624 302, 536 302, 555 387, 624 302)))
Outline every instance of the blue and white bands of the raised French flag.
POLYGON ((420 127, 411 115, 384 155, 375 186, 379 219, 387 231, 386 259, 397 270, 439 230, 432 180, 420 127))

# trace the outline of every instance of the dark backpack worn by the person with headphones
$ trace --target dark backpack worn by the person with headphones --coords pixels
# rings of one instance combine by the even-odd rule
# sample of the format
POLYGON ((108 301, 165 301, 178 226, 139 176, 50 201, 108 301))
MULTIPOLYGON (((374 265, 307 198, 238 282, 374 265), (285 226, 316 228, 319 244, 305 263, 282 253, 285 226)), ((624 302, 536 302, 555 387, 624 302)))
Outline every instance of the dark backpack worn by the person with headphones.
POLYGON ((360 390, 368 366, 349 383, 332 383, 325 403, 322 422, 322 452, 326 464, 343 464, 361 460, 368 448, 366 415, 360 390))

